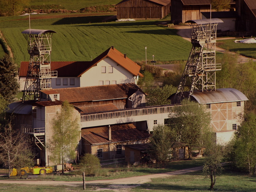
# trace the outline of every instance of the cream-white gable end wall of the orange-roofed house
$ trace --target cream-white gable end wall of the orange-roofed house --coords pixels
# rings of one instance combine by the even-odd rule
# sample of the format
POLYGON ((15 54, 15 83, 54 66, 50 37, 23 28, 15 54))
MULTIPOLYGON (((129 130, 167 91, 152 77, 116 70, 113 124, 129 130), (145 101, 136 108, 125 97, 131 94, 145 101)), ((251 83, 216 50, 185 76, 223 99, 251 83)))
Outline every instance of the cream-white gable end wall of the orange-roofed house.
POLYGON ((80 87, 98 86, 100 81, 103 81, 103 85, 120 84, 120 83, 134 83, 133 75, 124 69, 118 63, 114 62, 110 58, 104 58, 97 66, 90 68, 80 77, 80 87), (102 67, 106 67, 106 73, 101 73, 102 67), (113 67, 113 73, 109 73, 109 67, 113 67))

